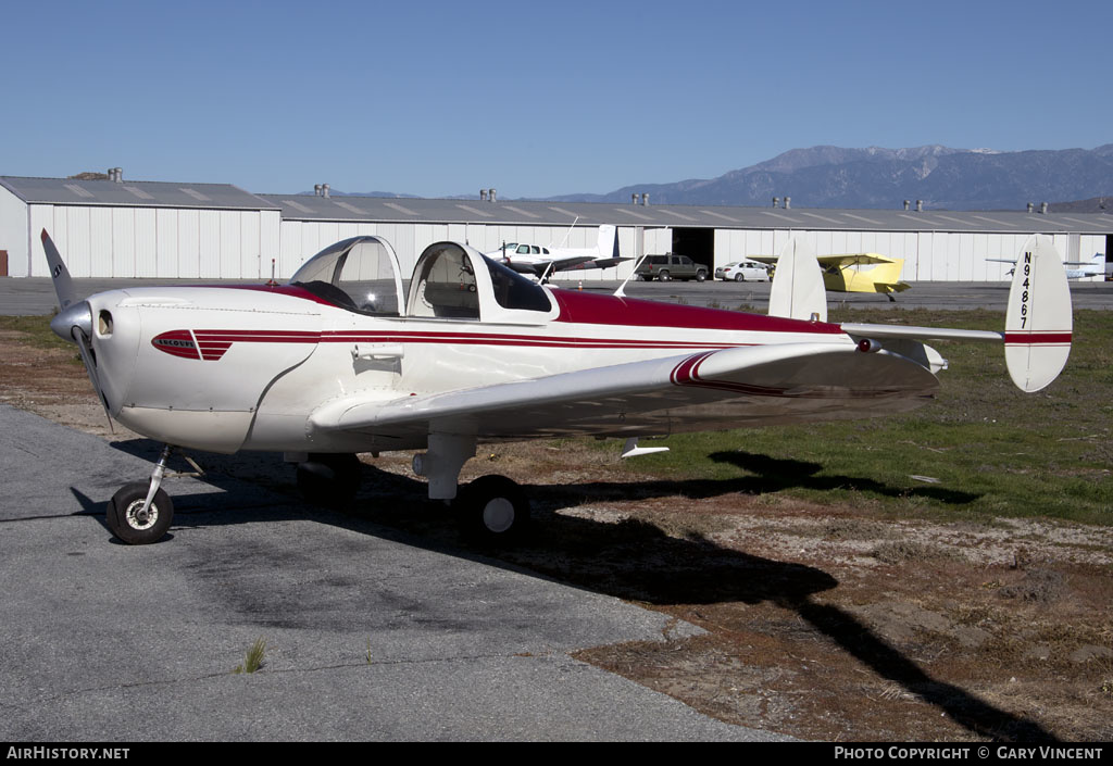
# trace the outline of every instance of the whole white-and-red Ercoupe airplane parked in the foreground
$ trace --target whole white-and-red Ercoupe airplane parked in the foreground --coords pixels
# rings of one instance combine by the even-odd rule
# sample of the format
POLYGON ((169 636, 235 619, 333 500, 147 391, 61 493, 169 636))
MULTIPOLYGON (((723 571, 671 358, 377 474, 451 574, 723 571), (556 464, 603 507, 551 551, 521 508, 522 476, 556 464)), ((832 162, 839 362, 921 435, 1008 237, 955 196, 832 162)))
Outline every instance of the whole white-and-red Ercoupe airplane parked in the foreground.
POLYGON ((106 413, 166 446, 150 479, 121 488, 108 524, 125 542, 159 540, 173 504, 171 450, 274 451, 299 484, 354 494, 356 453, 424 450, 429 497, 496 540, 529 501, 504 477, 461 488, 486 442, 639 436, 879 416, 927 403, 946 362, 920 341, 1004 343, 1013 381, 1038 391, 1062 370, 1071 298, 1050 240, 1033 239, 1013 282, 1005 332, 829 324, 815 257, 794 240, 770 301, 777 315, 555 289, 467 245, 440 242, 403 291, 376 236, 336 243, 288 284, 127 287, 73 294, 42 244, 62 308, 106 413))

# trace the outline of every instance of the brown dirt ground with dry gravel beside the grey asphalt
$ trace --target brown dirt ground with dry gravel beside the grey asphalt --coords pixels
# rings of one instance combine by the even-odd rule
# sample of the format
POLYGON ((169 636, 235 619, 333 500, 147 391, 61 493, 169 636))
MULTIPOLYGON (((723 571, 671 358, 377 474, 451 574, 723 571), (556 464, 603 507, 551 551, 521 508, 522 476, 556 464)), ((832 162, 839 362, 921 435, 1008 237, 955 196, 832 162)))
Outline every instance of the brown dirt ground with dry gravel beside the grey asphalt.
MULTIPOLYGON (((134 438, 109 433, 72 354, 0 331, 0 401, 134 438)), ((693 492, 632 474, 617 449, 602 464, 600 454, 579 442, 502 445, 464 475, 503 473, 533 498, 535 536, 484 553, 703 631, 580 659, 721 720, 810 739, 1113 739, 1113 529, 893 520, 780 493, 693 492)), ((199 456, 295 491, 274 456, 199 456)), ((349 512, 467 544, 447 511, 423 502, 408 461, 365 456, 349 512)))

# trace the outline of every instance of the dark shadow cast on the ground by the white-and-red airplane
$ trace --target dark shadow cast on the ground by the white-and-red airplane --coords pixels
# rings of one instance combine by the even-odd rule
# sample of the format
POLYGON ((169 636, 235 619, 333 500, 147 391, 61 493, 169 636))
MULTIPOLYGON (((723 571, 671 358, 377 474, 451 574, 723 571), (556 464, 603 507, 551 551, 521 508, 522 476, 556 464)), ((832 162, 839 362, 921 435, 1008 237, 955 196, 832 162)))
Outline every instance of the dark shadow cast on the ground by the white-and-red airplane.
MULTIPOLYGON (((145 440, 116 442, 114 446, 148 460, 157 459, 158 445, 145 440)), ((284 474, 285 489, 270 489, 267 499, 260 502, 258 488, 237 478, 244 467, 242 455, 206 455, 204 480, 226 492, 216 498, 175 495, 176 507, 184 510, 176 514, 175 527, 187 530, 304 518, 626 600, 658 606, 768 601, 797 613, 878 677, 902 686, 978 736, 997 742, 1055 739, 1035 721, 996 708, 954 684, 932 678, 850 612, 817 602, 817 593, 838 586, 838 580, 821 569, 730 550, 698 533, 672 537, 644 521, 608 523, 555 512, 584 500, 598 503, 607 499, 677 494, 708 498, 731 492, 772 492, 787 487, 830 489, 853 484, 885 494, 904 493, 861 478, 816 477, 821 469, 816 463, 738 452, 717 453, 712 458, 760 474, 715 481, 528 487, 526 491, 535 499, 538 530, 522 544, 499 550, 470 541, 454 523, 451 509, 427 501, 424 482, 408 477, 365 464, 363 483, 370 489, 362 491, 348 508, 325 509, 301 500, 293 490, 293 468, 276 463, 269 482, 284 474)), ((932 487, 917 492, 945 502, 969 502, 975 497, 932 487)), ((83 502, 87 501, 88 498, 83 502)))

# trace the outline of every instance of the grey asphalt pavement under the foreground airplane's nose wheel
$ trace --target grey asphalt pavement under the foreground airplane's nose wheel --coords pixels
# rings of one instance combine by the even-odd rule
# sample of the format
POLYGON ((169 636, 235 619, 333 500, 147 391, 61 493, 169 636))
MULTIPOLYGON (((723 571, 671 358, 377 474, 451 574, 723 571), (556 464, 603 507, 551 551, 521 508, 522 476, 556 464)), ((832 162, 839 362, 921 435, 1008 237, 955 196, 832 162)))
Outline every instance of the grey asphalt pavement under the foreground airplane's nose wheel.
POLYGON ((170 480, 171 537, 121 544, 144 449, 0 405, 2 740, 779 738, 570 656, 692 626, 255 483, 170 480))

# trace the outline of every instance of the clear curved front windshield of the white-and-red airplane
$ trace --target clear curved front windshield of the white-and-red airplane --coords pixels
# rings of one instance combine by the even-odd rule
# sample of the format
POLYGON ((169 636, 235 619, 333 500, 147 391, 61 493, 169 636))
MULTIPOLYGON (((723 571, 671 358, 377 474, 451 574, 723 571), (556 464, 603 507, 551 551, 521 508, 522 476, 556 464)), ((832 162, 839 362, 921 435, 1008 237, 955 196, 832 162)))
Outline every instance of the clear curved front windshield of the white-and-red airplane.
POLYGON ((326 247, 289 284, 361 314, 398 316, 402 306, 398 258, 382 237, 352 237, 326 247))

